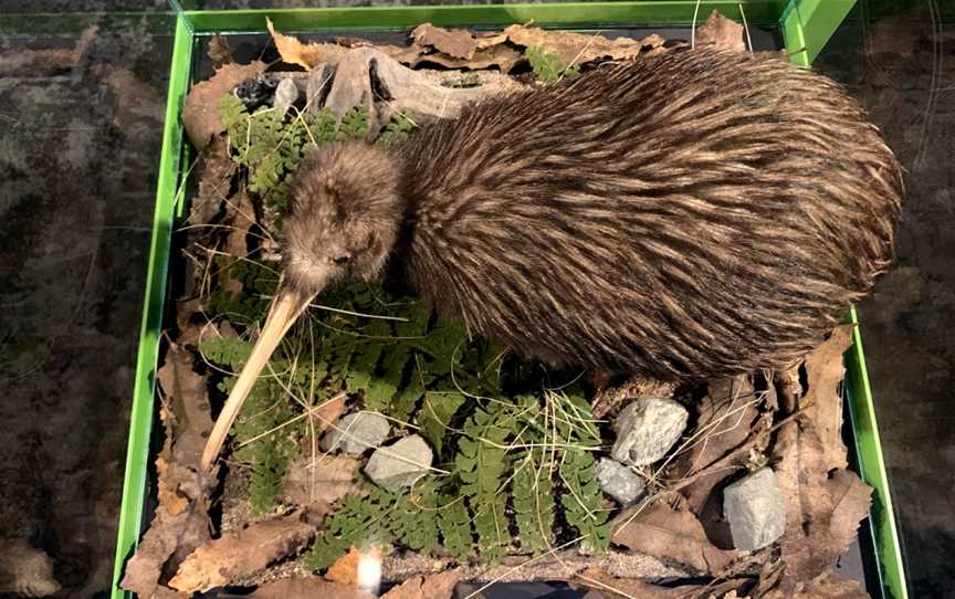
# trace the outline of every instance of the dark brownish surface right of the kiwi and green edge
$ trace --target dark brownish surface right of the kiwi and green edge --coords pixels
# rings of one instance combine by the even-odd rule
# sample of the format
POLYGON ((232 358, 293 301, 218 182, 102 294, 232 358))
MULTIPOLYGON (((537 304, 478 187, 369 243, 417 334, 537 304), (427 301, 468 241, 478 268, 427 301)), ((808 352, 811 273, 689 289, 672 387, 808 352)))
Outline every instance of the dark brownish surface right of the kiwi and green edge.
POLYGON ((913 597, 955 589, 955 6, 859 3, 816 60, 906 170, 898 261, 859 306, 913 597))

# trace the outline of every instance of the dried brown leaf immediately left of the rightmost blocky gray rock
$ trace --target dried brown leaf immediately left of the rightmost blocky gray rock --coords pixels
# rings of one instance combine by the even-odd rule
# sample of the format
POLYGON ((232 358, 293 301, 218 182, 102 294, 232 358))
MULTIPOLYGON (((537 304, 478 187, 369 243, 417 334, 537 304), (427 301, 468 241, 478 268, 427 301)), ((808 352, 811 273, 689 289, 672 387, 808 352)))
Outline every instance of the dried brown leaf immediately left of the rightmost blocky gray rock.
POLYGON ((686 509, 673 509, 662 501, 622 511, 613 519, 611 540, 615 545, 712 575, 744 555, 714 546, 696 516, 686 509))

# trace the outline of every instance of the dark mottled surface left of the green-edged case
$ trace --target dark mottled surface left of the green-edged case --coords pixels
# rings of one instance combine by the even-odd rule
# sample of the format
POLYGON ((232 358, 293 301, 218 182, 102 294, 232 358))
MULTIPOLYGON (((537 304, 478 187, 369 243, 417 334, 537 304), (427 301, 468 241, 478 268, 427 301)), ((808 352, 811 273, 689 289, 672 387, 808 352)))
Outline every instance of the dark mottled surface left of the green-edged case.
POLYGON ((165 0, 2 10, 0 537, 22 544, 3 565, 44 551, 60 596, 102 597, 174 23, 165 0), (107 7, 139 12, 87 12, 107 7))

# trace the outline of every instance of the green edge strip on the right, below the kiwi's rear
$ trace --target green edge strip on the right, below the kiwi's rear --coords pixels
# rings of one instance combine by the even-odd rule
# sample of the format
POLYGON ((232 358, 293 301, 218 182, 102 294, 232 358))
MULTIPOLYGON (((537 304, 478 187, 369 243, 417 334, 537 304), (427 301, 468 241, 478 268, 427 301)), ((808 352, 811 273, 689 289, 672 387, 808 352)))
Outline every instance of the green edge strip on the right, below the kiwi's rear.
POLYGON ((852 327, 852 347, 846 353, 846 392, 849 402, 849 417, 856 439, 856 454, 859 475, 873 488, 869 519, 872 526, 873 545, 879 554, 875 563, 879 579, 886 599, 907 599, 905 565, 902 547, 895 526, 895 512, 889 493, 889 477, 882 459, 882 443, 879 440, 879 424, 875 421, 875 403, 865 367, 865 351, 862 347, 862 333, 859 315, 853 307, 849 314, 852 327))

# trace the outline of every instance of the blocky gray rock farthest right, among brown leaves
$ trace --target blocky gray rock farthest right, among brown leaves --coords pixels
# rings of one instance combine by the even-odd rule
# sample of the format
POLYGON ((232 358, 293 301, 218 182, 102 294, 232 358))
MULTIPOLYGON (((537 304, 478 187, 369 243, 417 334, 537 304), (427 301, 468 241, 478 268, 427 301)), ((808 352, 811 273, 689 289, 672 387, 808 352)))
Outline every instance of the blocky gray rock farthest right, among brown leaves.
POLYGON ((733 545, 744 551, 770 545, 786 530, 786 507, 776 473, 764 467, 723 492, 723 514, 730 521, 733 545))

